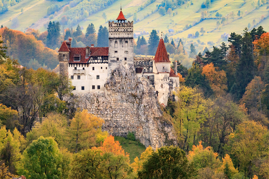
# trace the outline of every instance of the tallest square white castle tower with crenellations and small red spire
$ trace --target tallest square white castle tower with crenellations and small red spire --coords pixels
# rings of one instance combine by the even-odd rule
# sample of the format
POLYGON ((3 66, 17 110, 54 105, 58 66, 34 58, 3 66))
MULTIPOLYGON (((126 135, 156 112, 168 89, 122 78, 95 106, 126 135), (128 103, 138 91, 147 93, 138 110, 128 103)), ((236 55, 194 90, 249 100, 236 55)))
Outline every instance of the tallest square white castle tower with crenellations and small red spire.
POLYGON ((133 21, 125 22, 122 8, 118 22, 109 22, 109 75, 120 63, 134 63, 133 21))

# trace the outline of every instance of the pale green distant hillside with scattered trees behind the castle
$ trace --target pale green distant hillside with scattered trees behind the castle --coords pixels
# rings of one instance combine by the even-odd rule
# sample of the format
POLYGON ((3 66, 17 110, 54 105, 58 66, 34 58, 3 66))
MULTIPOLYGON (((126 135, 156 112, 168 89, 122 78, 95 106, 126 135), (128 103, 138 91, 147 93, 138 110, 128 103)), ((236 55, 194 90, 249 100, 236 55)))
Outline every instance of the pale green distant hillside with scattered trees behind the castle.
MULTIPOLYGON (((10 6, 7 12, 1 14, 0 25, 20 31, 36 28, 42 32, 46 30, 49 20, 58 20, 65 24, 65 28, 71 26, 75 28, 79 23, 82 31, 85 32, 88 24, 93 23, 98 30, 100 25, 107 26, 108 20, 116 19, 122 6, 126 19, 137 20, 134 24, 134 32, 150 33, 152 29, 156 29, 160 35, 163 31, 163 36, 174 38, 176 43, 181 38, 186 51, 189 51, 189 46, 193 43, 197 52, 203 51, 205 47, 211 49, 213 45, 218 46, 222 41, 228 43, 226 33, 241 34, 245 27, 252 29, 263 26, 265 31, 269 31, 269 3, 266 0, 211 0, 208 8, 203 5, 205 0, 174 0, 173 2, 172 0, 104 0, 101 2, 103 4, 98 0, 23 0, 10 6), (48 15, 47 7, 52 5, 57 5, 60 10, 48 15), (66 5, 69 8, 64 10, 66 5), (170 14, 167 12, 168 6, 171 7, 170 14), (160 9, 164 9, 164 15, 160 15, 160 9), (136 18, 134 18, 136 11, 136 18), (104 13, 106 19, 103 18, 104 13), (222 23, 223 17, 225 21, 222 23), (218 21, 220 25, 217 25, 218 21), (200 32, 202 27, 203 35, 200 32), (173 29, 174 32, 169 33, 169 29, 173 29), (197 31, 199 36, 193 38, 197 31)), ((148 40, 149 35, 144 36, 148 40)))

